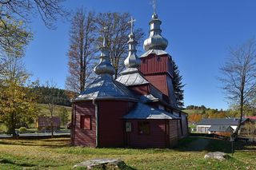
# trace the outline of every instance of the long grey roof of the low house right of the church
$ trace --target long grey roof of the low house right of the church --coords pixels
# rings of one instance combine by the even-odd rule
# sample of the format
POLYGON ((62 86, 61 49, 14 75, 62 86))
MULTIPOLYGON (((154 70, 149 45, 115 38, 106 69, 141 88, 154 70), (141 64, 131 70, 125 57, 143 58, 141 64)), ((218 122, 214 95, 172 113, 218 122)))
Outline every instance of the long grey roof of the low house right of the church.
MULTIPOLYGON (((246 121, 247 119, 242 119, 246 121)), ((213 119, 202 119, 197 125, 238 125, 239 119, 237 118, 213 118, 213 119)))

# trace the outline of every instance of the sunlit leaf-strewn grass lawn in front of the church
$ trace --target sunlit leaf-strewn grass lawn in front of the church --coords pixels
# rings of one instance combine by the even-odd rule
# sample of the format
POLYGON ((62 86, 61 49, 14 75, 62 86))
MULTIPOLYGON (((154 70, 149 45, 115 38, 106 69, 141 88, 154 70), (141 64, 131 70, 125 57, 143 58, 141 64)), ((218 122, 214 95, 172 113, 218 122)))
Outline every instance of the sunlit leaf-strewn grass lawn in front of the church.
POLYGON ((210 151, 230 153, 230 143, 188 137, 172 149, 70 147, 69 139, 0 140, 0 169, 71 169, 92 158, 120 158, 131 169, 255 169, 256 146, 235 143, 229 160, 204 160, 210 151))

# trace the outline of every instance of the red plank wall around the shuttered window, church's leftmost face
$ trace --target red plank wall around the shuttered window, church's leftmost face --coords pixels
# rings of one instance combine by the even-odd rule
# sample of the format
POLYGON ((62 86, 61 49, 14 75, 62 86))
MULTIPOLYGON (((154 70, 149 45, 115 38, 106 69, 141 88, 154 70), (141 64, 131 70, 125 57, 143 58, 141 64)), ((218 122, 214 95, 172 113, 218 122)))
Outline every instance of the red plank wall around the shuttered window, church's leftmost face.
POLYGON ((74 103, 74 128, 72 128, 73 144, 88 147, 96 146, 95 106, 92 101, 74 103), (81 116, 90 115, 91 129, 82 129, 81 116))

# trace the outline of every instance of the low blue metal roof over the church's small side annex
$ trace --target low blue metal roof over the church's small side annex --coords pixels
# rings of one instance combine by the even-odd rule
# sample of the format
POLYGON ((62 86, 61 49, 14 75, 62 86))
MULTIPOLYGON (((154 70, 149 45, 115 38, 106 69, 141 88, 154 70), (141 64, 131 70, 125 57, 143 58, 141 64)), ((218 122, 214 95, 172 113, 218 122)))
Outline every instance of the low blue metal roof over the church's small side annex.
POLYGON ((168 113, 161 109, 155 109, 149 105, 138 104, 123 117, 124 119, 180 119, 180 117, 175 116, 174 114, 168 113))

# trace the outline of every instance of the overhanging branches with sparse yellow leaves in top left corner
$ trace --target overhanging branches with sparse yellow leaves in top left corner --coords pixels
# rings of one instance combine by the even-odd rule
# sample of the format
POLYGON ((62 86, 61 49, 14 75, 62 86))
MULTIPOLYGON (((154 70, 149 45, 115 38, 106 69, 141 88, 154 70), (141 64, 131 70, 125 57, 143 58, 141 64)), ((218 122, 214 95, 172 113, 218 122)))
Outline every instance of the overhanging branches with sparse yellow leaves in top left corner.
POLYGON ((0 0, 0 52, 21 57, 31 38, 28 29, 31 18, 39 14, 48 28, 56 28, 54 22, 68 16, 62 2, 64 0, 0 0))

